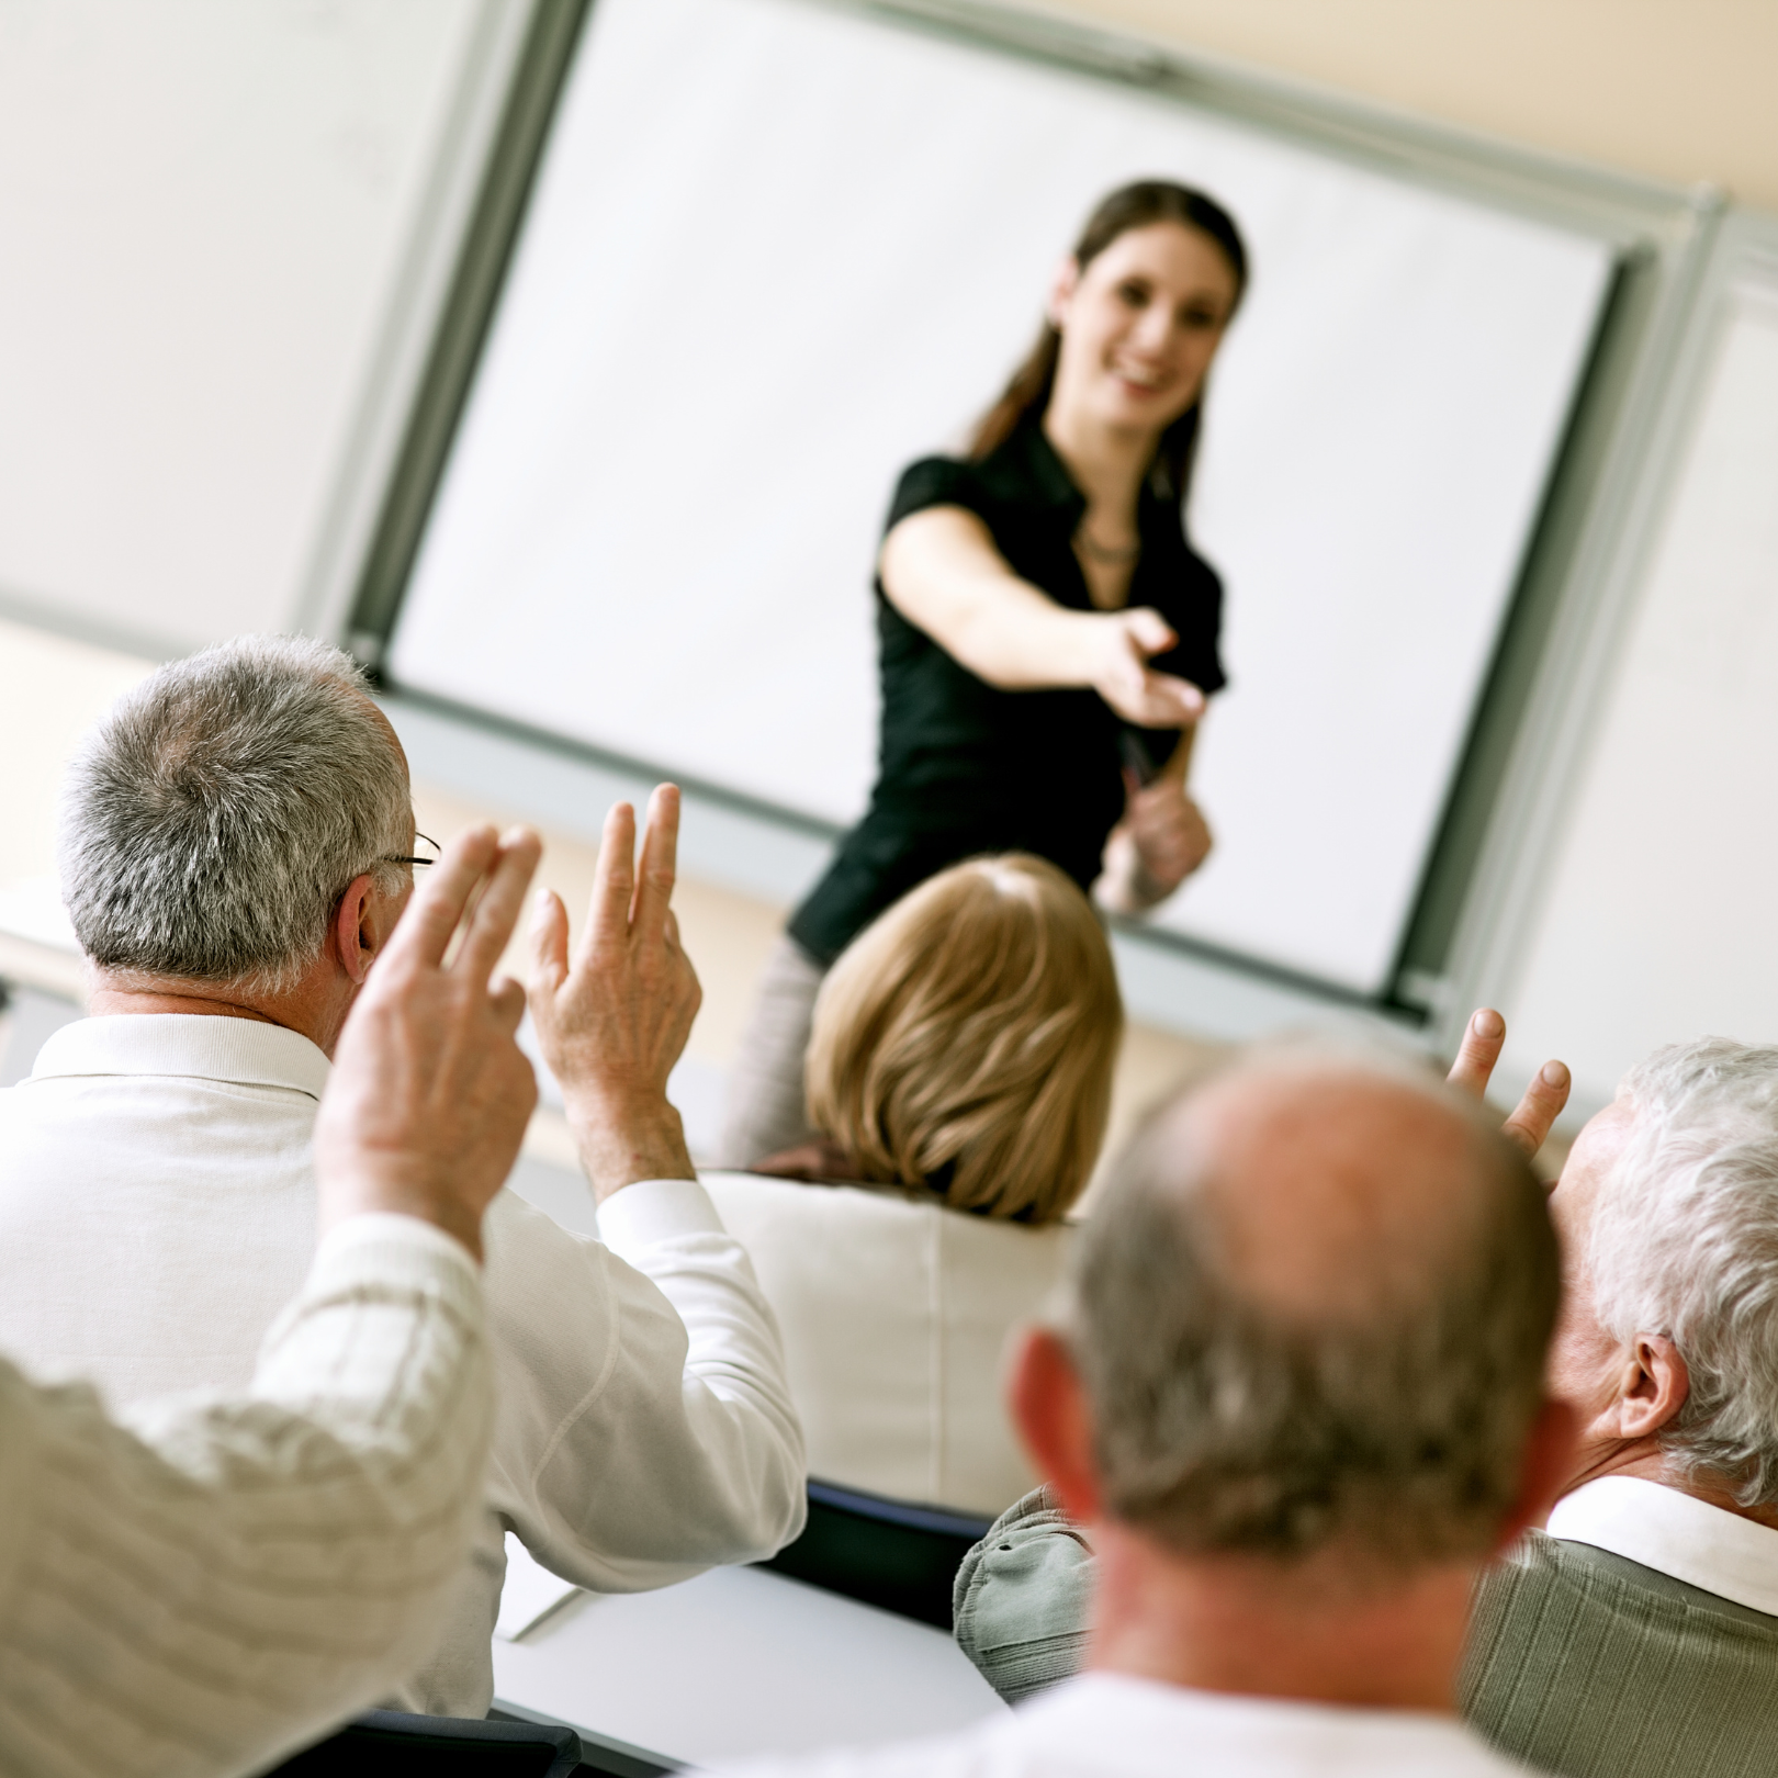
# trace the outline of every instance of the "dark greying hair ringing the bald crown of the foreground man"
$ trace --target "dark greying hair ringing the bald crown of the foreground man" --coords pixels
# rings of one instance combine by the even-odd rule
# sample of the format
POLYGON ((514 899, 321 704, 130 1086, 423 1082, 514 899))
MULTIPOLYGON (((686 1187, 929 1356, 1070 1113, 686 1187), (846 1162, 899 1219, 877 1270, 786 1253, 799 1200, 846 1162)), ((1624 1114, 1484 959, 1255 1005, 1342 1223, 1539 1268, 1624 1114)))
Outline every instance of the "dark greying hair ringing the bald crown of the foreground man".
POLYGON ((1399 1570, 1483 1554, 1517 1499, 1561 1293, 1543 1189, 1472 1104, 1399 1065, 1362 1072, 1462 1118, 1476 1186, 1412 1275, 1380 1262, 1362 1312, 1255 1296, 1218 1209, 1236 1184, 1172 1109, 1118 1159, 1076 1250, 1061 1330, 1108 1511, 1182 1554, 1339 1545, 1399 1570))

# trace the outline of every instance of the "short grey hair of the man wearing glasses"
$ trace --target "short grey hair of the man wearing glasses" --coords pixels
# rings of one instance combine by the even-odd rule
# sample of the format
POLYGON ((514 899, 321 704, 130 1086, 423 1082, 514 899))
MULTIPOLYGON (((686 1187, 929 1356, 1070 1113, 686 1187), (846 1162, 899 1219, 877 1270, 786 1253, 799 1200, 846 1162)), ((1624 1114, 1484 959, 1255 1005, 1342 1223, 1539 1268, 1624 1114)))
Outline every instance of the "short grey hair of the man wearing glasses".
POLYGON ((277 990, 352 878, 398 889, 412 797, 364 692, 324 642, 242 637, 119 699, 62 793, 62 900, 87 957, 277 990))

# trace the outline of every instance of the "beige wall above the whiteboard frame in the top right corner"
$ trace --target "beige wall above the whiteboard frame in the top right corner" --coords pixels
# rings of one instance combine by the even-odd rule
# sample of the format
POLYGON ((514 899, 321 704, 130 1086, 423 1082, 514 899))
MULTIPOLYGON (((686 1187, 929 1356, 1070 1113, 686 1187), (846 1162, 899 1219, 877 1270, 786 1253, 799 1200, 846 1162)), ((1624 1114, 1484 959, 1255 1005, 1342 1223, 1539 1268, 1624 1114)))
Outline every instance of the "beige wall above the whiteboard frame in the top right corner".
POLYGON ((1056 0, 1045 11, 1778 212, 1778 0, 1056 0))

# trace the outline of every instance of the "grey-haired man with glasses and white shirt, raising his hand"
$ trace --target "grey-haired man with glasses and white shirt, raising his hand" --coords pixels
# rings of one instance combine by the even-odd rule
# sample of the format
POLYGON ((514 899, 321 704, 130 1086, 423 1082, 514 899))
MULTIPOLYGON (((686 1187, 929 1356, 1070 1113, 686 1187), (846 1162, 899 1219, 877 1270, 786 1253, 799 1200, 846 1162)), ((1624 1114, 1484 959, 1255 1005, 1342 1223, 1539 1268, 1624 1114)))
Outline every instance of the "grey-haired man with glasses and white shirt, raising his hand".
MULTIPOLYGON (((580 949, 544 901, 532 1013, 605 1243, 487 1216, 487 1515, 407 1709, 480 1716, 503 1531, 605 1591, 768 1556, 804 1513, 772 1314, 665 1081, 697 1010, 677 798, 606 821, 580 949)), ((236 1387, 308 1264, 329 1054, 412 893, 407 763, 352 663, 245 638, 119 702, 71 768, 62 894, 92 1017, 0 1093, 0 1350, 117 1403, 236 1387)))

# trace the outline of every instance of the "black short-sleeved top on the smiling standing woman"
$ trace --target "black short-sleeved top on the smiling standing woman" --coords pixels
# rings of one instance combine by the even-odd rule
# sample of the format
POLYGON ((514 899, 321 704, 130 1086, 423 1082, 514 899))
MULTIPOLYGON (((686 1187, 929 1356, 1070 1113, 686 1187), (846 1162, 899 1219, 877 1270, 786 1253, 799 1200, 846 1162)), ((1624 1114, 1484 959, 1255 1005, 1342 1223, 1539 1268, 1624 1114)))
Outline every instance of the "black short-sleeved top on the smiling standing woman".
MULTIPOLYGON (((926 507, 965 507, 1022 580, 1058 605, 1093 610, 1074 555, 1086 496, 1042 425, 1021 423, 981 462, 925 457, 896 487, 887 532, 926 507)), ((1145 489, 1136 510, 1141 558, 1129 605, 1154 606, 1179 645, 1150 665, 1202 692, 1227 683, 1218 654, 1221 581, 1186 542, 1177 501, 1145 489)), ((1035 852, 1083 889, 1124 814, 1125 727, 1093 690, 1001 692, 910 624, 877 581, 882 740, 864 820, 791 916, 791 937, 830 964, 891 901, 960 859, 1035 852)), ((1163 763, 1177 729, 1136 729, 1163 763)))

